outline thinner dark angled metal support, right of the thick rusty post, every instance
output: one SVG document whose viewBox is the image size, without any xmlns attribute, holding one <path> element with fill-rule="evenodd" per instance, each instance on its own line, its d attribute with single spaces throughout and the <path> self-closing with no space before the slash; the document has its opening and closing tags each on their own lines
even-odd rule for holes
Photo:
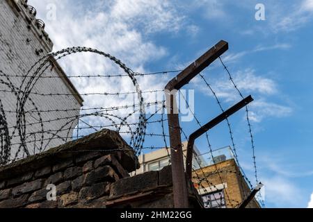
<svg viewBox="0 0 313 222">
<path fill-rule="evenodd" d="M 228 117 L 230 117 L 235 112 L 241 110 L 241 108 L 244 108 L 246 105 L 251 103 L 253 101 L 252 96 L 248 96 L 246 99 L 243 99 L 239 103 L 236 103 L 236 105 L 232 106 L 232 108 L 229 108 L 222 114 L 218 115 L 218 117 L 212 119 L 207 124 L 199 128 L 198 130 L 195 130 L 188 139 L 188 145 L 187 145 L 187 156 L 186 156 L 186 176 L 187 180 L 191 181 L 191 169 L 192 169 L 192 161 L 193 161 L 193 145 L 195 144 L 195 139 L 206 133 L 211 128 L 214 128 L 214 126 L 218 125 L 218 123 L 224 121 Z"/>
</svg>

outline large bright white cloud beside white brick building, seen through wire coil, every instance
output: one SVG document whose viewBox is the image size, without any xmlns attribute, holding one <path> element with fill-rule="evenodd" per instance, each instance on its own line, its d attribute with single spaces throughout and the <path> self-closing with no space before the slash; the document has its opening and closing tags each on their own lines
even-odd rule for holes
<svg viewBox="0 0 313 222">
<path fill-rule="evenodd" d="M 56 20 L 46 18 L 47 3 L 56 6 Z M 69 46 L 86 46 L 122 60 L 134 71 L 145 73 L 151 60 L 166 56 L 167 50 L 152 42 L 151 33 L 176 33 L 184 25 L 184 16 L 172 1 L 74 1 L 30 0 L 37 17 L 43 19 L 46 31 L 54 42 L 54 51 Z M 194 29 L 195 30 L 195 29 Z M 60 60 L 67 75 L 122 74 L 123 71 L 110 60 L 92 53 L 70 55 Z M 154 71 L 154 70 L 153 70 Z M 130 78 L 71 78 L 81 94 L 93 92 L 135 92 Z M 143 91 L 163 89 L 165 77 L 138 78 Z M 145 94 L 145 102 L 155 101 L 153 94 Z M 136 96 L 83 96 L 84 108 L 112 107 L 139 103 Z M 125 110 L 123 110 L 125 111 Z M 120 117 L 128 113 L 114 112 Z M 105 119 L 89 119 L 99 126 Z M 130 122 L 136 122 L 131 117 Z"/>
</svg>

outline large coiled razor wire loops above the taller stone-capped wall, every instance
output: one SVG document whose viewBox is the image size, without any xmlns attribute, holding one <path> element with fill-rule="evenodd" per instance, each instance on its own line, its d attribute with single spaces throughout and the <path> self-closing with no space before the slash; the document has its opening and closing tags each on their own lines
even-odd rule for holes
<svg viewBox="0 0 313 222">
<path fill-rule="evenodd" d="M 135 107 L 138 106 L 138 121 L 136 123 L 136 129 L 133 130 L 131 126 L 127 123 L 127 119 L 131 117 L 134 112 L 131 112 L 127 115 L 127 117 L 118 117 L 114 114 L 109 114 L 108 112 L 101 112 L 96 111 L 88 114 L 79 114 L 75 117 L 69 117 L 67 118 L 68 121 L 61 126 L 61 128 L 58 128 L 55 132 L 47 131 L 44 128 L 45 121 L 41 117 L 41 112 L 35 105 L 35 102 L 33 99 L 31 99 L 31 95 L 36 94 L 33 92 L 33 89 L 35 85 L 38 83 L 38 80 L 42 78 L 43 74 L 49 67 L 53 65 L 51 62 L 52 60 L 61 60 L 62 58 L 65 58 L 66 56 L 70 56 L 76 53 L 95 53 L 100 56 L 104 56 L 104 58 L 111 60 L 115 63 L 115 65 L 118 65 L 122 71 L 124 71 L 125 74 L 122 76 L 128 76 L 131 79 L 131 83 L 134 85 L 135 91 L 133 94 L 137 94 L 138 99 L 138 105 L 133 104 L 129 105 L 129 107 Z M 11 155 L 11 139 L 13 137 L 17 137 L 16 134 L 18 134 L 18 137 L 20 139 L 19 148 L 17 149 L 17 152 L 15 153 L 15 157 L 12 161 L 17 160 L 18 155 L 21 151 L 23 151 L 26 156 L 31 155 L 31 150 L 34 145 L 31 145 L 30 142 L 34 142 L 35 146 L 38 146 L 38 151 L 42 152 L 45 151 L 45 149 L 49 146 L 49 142 L 55 138 L 62 139 L 63 142 L 67 142 L 69 139 L 72 139 L 72 135 L 70 135 L 70 129 L 74 128 L 74 123 L 76 121 L 81 121 L 83 117 L 88 116 L 94 116 L 94 117 L 102 117 L 106 119 L 107 121 L 111 121 L 112 125 L 115 127 L 115 129 L 119 132 L 122 128 L 122 126 L 126 126 L 129 129 L 129 133 L 131 134 L 131 139 L 129 142 L 129 145 L 134 148 L 135 153 L 140 153 L 141 149 L 143 148 L 143 142 L 145 138 L 145 130 L 146 130 L 146 119 L 145 119 L 145 103 L 143 102 L 143 96 L 141 88 L 138 85 L 138 82 L 136 80 L 136 76 L 138 76 L 137 73 L 134 73 L 131 69 L 129 69 L 123 62 L 118 60 L 118 58 L 115 58 L 114 56 L 111 56 L 109 53 L 104 53 L 102 51 L 99 51 L 97 49 L 91 49 L 87 47 L 71 47 L 67 49 L 62 49 L 60 51 L 56 51 L 55 53 L 49 53 L 47 56 L 43 56 L 35 62 L 35 64 L 27 71 L 26 75 L 16 75 L 22 77 L 22 83 L 19 87 L 16 87 L 13 85 L 13 83 L 10 81 L 10 76 L 3 73 L 3 71 L 0 71 L 1 76 L 3 76 L 6 80 L 0 79 L 0 83 L 2 85 L 6 85 L 8 87 L 8 92 L 12 92 L 15 94 L 15 97 L 17 99 L 16 104 L 16 110 L 15 110 L 15 116 L 16 116 L 16 126 L 13 126 L 12 133 L 9 135 L 9 128 L 8 123 L 6 121 L 6 112 L 3 108 L 3 105 L 0 100 L 0 142 L 1 142 L 1 153 L 0 153 L 0 164 L 7 164 L 8 159 Z M 4 91 L 4 90 L 3 90 Z M 45 94 L 44 94 L 45 95 Z M 108 95 L 108 94 L 104 94 Z M 46 96 L 52 96 L 47 94 Z M 29 110 L 26 110 L 26 103 L 31 104 L 33 108 L 31 108 L 31 112 Z M 28 108 L 29 109 L 29 108 Z M 116 109 L 118 110 L 118 108 Z M 58 110 L 56 110 L 58 111 Z M 68 111 L 68 110 L 66 110 Z M 13 112 L 12 112 L 13 113 Z M 27 132 L 27 126 L 32 125 L 32 123 L 26 122 L 26 114 L 35 113 L 37 115 L 38 124 L 40 125 L 40 131 L 36 133 L 26 133 Z M 51 121 L 57 121 L 58 119 L 51 119 Z M 118 119 L 120 123 L 117 123 L 115 119 Z M 46 122 L 51 122 L 46 121 Z M 86 123 L 86 122 L 84 122 Z M 88 124 L 88 123 L 86 123 Z M 62 130 L 68 130 L 67 131 L 67 137 L 61 138 L 58 133 Z M 95 128 L 94 128 L 95 129 Z M 49 135 L 49 138 L 47 138 L 47 135 Z M 77 135 L 78 136 L 78 135 Z M 38 138 L 39 137 L 39 138 Z M 33 138 L 30 142 L 28 139 Z M 44 144 L 44 141 L 48 141 Z M 31 148 L 32 147 L 32 148 Z"/>
</svg>

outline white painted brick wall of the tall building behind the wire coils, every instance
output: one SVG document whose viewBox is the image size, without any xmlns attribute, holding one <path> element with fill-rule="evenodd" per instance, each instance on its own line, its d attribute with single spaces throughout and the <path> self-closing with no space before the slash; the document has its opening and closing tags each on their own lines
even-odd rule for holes
<svg viewBox="0 0 313 222">
<path fill-rule="evenodd" d="M 22 13 L 22 12 L 19 12 Z M 0 70 L 7 75 L 25 75 L 30 67 L 37 62 L 43 55 L 49 53 L 49 48 L 42 44 L 42 40 L 38 38 L 38 35 L 27 28 L 27 22 L 21 15 L 14 12 L 13 8 L 8 5 L 6 0 L 0 0 Z M 27 41 L 29 40 L 29 41 Z M 36 49 L 44 49 L 44 53 L 37 56 Z M 45 71 L 47 76 L 58 76 L 56 69 L 47 69 Z M 0 80 L 4 80 L 8 83 L 8 80 L 4 76 L 0 76 Z M 10 77 L 11 83 L 15 87 L 20 87 L 22 78 Z M 5 84 L 0 83 L 0 90 L 10 90 Z M 35 85 L 33 92 L 40 93 L 65 93 L 70 94 L 71 91 L 61 78 L 40 78 Z M 42 121 L 54 120 L 58 118 L 76 117 L 79 114 L 79 108 L 81 105 L 74 96 L 38 96 L 31 95 L 31 99 L 35 102 L 39 110 L 70 110 L 68 112 L 42 112 Z M 17 99 L 15 94 L 11 92 L 0 92 L 0 99 L 3 103 L 3 109 L 6 110 L 6 118 L 8 122 L 8 128 L 10 129 L 10 135 L 13 134 L 13 128 L 16 126 L 16 114 L 15 112 Z M 33 110 L 33 105 L 28 101 L 25 106 L 25 110 Z M 26 124 L 38 122 L 38 114 L 31 113 L 26 114 Z M 74 118 L 72 118 L 73 120 Z M 61 119 L 58 121 L 51 121 L 44 123 L 44 130 L 58 130 L 64 126 L 69 119 Z M 69 135 L 72 137 L 72 130 L 77 125 L 77 121 L 74 121 L 72 125 L 68 125 Z M 58 136 L 63 138 L 67 137 L 68 130 L 63 130 L 58 133 Z M 38 133 L 39 132 L 39 133 Z M 41 137 L 40 124 L 36 123 L 31 127 L 26 128 L 26 133 L 29 136 L 27 141 L 33 141 L 40 139 Z M 35 133 L 31 135 L 30 133 Z M 64 141 L 61 138 L 54 138 L 51 142 L 46 140 L 51 135 L 44 133 L 44 148 L 51 148 L 63 144 Z M 15 132 L 11 140 L 12 151 L 11 158 L 19 149 L 19 136 Z M 29 142 L 27 144 L 30 153 L 38 153 L 38 146 L 40 142 Z M 18 157 L 23 157 L 24 152 L 21 151 Z"/>
</svg>

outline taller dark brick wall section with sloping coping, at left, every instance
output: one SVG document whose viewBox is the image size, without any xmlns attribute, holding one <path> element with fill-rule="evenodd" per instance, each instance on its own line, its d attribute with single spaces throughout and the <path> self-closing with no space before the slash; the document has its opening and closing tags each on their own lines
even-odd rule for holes
<svg viewBox="0 0 313 222">
<path fill-rule="evenodd" d="M 0 168 L 0 207 L 105 207 L 113 182 L 136 169 L 134 151 L 110 130 Z M 56 185 L 48 201 L 47 185 Z"/>
</svg>

